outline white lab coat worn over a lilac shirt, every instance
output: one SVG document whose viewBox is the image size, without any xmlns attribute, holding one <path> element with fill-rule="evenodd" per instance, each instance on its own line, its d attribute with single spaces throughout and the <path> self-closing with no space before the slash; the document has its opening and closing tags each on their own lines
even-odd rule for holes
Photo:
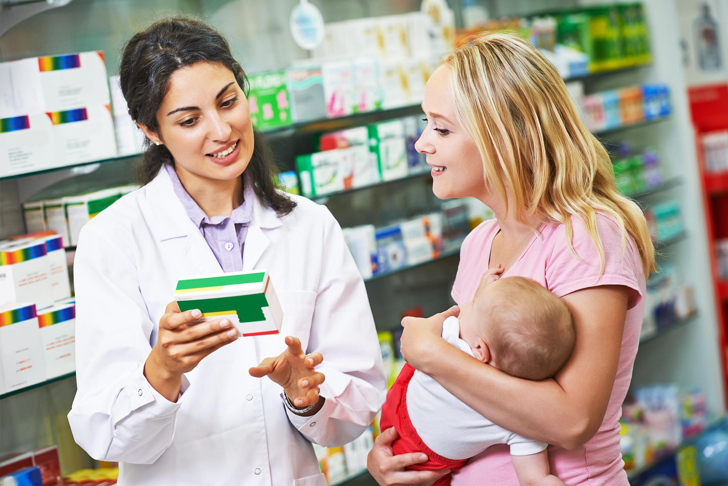
<svg viewBox="0 0 728 486">
<path fill-rule="evenodd" d="M 364 282 L 325 206 L 278 218 L 256 199 L 245 270 L 269 271 L 283 308 L 280 334 L 239 338 L 183 378 L 176 403 L 143 366 L 178 279 L 221 273 L 161 170 L 82 229 L 76 250 L 76 380 L 68 421 L 92 458 L 119 461 L 119 485 L 325 486 L 311 442 L 358 437 L 386 380 Z M 323 408 L 288 412 L 281 388 L 248 368 L 301 339 L 320 351 Z"/>
</svg>

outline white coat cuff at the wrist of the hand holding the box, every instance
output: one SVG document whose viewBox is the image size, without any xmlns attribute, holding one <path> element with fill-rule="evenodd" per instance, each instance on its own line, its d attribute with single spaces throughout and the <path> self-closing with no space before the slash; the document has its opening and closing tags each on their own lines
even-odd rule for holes
<svg viewBox="0 0 728 486">
<path fill-rule="evenodd" d="M 189 381 L 182 375 L 181 391 L 186 390 L 187 387 L 189 387 Z M 182 399 L 182 393 L 176 403 L 162 397 L 146 380 L 142 363 L 135 373 L 132 373 L 127 385 L 119 391 L 119 396 L 116 397 L 116 401 L 111 407 L 111 420 L 116 425 L 136 410 L 144 410 L 152 417 L 173 415 L 182 405 Z"/>
</svg>

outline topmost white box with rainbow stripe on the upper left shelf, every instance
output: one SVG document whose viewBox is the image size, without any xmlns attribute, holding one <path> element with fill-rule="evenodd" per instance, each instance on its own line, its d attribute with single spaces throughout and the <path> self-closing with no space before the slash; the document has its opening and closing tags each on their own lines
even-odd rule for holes
<svg viewBox="0 0 728 486">
<path fill-rule="evenodd" d="M 1 80 L 8 83 L 3 94 L 6 99 L 12 96 L 12 103 L 0 104 L 3 116 L 111 103 L 102 51 L 28 57 L 3 64 Z"/>
</svg>

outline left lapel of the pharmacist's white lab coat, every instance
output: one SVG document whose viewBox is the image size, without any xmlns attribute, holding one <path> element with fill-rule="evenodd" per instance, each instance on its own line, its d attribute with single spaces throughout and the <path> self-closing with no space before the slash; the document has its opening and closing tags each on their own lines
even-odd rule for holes
<svg viewBox="0 0 728 486">
<path fill-rule="evenodd" d="M 181 266 L 189 263 L 198 274 L 220 274 L 223 270 L 205 237 L 187 215 L 172 187 L 167 171 L 162 168 L 146 187 L 149 210 L 156 215 L 153 232 L 163 251 L 178 252 Z"/>
</svg>

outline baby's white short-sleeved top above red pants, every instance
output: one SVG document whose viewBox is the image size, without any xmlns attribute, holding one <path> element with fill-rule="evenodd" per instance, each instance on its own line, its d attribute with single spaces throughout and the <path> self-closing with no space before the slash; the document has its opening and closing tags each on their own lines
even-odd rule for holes
<svg viewBox="0 0 728 486">
<path fill-rule="evenodd" d="M 459 336 L 459 320 L 448 317 L 443 339 L 472 356 Z M 414 372 L 407 388 L 407 410 L 422 442 L 444 458 L 472 458 L 496 444 L 510 445 L 512 455 L 536 454 L 547 447 L 496 426 L 421 371 Z"/>
</svg>

